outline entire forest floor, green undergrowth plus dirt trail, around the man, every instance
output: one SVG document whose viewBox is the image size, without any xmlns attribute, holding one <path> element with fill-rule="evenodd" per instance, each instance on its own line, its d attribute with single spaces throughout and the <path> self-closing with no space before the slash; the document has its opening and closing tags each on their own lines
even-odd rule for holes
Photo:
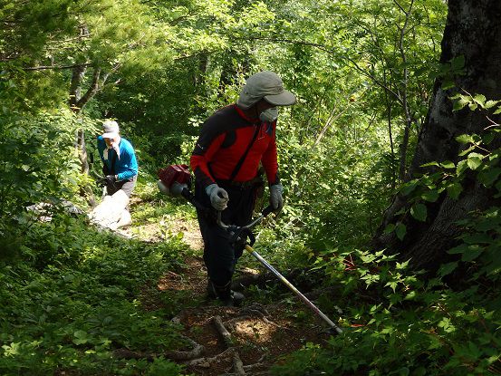
<svg viewBox="0 0 501 376">
<path fill-rule="evenodd" d="M 457 265 L 427 279 L 383 252 L 288 248 L 294 263 L 281 272 L 342 327 L 332 336 L 269 275 L 246 284 L 241 308 L 207 300 L 185 202 L 145 184 L 131 211 L 121 233 L 55 212 L 50 222 L 25 218 L 27 236 L 7 239 L 15 252 L 1 273 L 2 374 L 499 374 L 499 297 L 479 294 L 485 279 L 448 288 Z M 272 263 L 294 244 L 275 235 L 280 220 L 257 229 L 256 250 Z M 260 272 L 244 255 L 236 280 Z"/>
</svg>

